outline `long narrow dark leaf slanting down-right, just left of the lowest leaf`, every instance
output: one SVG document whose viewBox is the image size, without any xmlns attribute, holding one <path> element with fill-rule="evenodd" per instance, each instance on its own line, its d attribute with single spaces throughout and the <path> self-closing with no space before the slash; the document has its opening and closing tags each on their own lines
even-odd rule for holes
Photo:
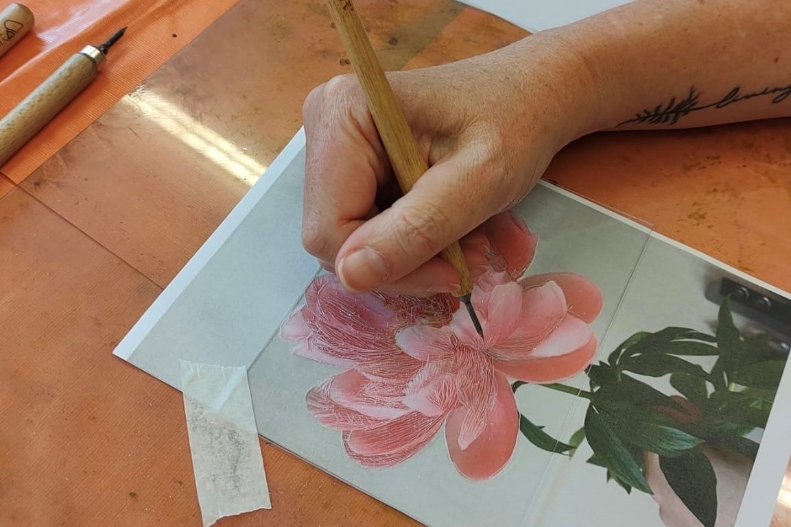
<svg viewBox="0 0 791 527">
<path fill-rule="evenodd" d="M 642 467 L 634 460 L 630 450 L 624 446 L 618 435 L 602 420 L 593 405 L 585 415 L 585 437 L 600 460 L 613 476 L 630 487 L 651 494 L 651 488 L 642 473 Z"/>
</svg>

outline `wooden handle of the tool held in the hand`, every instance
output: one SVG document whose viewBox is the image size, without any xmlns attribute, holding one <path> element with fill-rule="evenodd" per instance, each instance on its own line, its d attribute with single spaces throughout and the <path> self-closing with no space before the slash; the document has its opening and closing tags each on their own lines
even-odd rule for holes
<svg viewBox="0 0 791 527">
<path fill-rule="evenodd" d="M 429 165 L 412 135 L 407 118 L 395 100 L 354 3 L 351 0 L 327 0 L 327 6 L 365 92 L 373 122 L 377 125 L 384 149 L 388 152 L 395 178 L 406 194 L 426 173 Z M 456 296 L 468 295 L 472 291 L 472 280 L 459 243 L 454 242 L 446 247 L 440 256 L 460 274 L 461 288 Z"/>
</svg>

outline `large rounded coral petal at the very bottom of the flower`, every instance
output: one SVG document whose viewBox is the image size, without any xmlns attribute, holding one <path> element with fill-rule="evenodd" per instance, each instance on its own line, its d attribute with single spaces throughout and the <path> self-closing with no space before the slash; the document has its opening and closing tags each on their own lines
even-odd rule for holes
<svg viewBox="0 0 791 527">
<path fill-rule="evenodd" d="M 519 414 L 511 387 L 503 375 L 495 375 L 494 405 L 486 427 L 475 441 L 462 449 L 459 437 L 465 408 L 454 410 L 445 424 L 445 441 L 456 469 L 470 480 L 488 480 L 508 463 L 517 444 Z"/>
</svg>

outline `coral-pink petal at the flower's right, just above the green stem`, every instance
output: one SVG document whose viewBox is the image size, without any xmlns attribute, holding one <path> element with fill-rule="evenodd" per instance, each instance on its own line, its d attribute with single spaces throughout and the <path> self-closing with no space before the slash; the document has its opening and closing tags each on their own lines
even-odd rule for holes
<svg viewBox="0 0 791 527">
<path fill-rule="evenodd" d="M 494 367 L 510 378 L 526 382 L 558 382 L 588 367 L 596 355 L 596 337 L 581 348 L 562 356 L 524 360 L 495 360 Z"/>
</svg>

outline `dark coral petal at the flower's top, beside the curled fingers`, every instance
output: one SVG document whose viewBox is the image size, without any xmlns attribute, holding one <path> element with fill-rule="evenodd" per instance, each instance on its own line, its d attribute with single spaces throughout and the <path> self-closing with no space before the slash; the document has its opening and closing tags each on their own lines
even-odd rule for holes
<svg viewBox="0 0 791 527">
<path fill-rule="evenodd" d="M 484 224 L 489 238 L 494 269 L 519 278 L 536 254 L 538 238 L 524 221 L 511 212 L 500 213 Z"/>
</svg>

